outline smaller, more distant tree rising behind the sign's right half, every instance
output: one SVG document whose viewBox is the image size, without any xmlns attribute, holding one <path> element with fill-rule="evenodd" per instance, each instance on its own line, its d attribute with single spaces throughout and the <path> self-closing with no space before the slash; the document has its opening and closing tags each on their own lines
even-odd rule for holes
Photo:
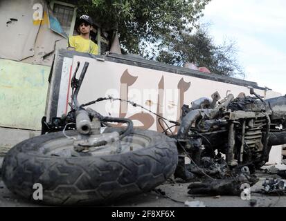
<svg viewBox="0 0 286 221">
<path fill-rule="evenodd" d="M 163 38 L 157 61 L 177 66 L 193 62 L 196 66 L 205 66 L 212 73 L 244 77 L 236 59 L 235 42 L 224 41 L 222 45 L 215 45 L 206 26 L 199 27 L 193 34 L 182 32 L 180 35 L 164 35 Z"/>
</svg>

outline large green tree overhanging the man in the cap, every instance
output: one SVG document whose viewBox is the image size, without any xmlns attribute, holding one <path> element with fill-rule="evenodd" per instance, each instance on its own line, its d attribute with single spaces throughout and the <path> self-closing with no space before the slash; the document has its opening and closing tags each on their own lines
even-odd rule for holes
<svg viewBox="0 0 286 221">
<path fill-rule="evenodd" d="M 190 32 L 211 0 L 79 0 L 78 10 L 118 30 L 123 52 L 143 55 L 162 35 Z M 163 42 L 161 42 L 163 44 Z"/>
</svg>

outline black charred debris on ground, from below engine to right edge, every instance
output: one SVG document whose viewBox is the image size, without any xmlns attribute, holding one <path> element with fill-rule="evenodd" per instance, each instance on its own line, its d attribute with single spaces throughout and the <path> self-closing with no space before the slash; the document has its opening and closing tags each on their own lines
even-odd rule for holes
<svg viewBox="0 0 286 221">
<path fill-rule="evenodd" d="M 263 178 L 257 173 L 263 174 Z M 184 174 L 184 175 L 182 175 Z M 224 158 L 212 159 L 202 157 L 199 165 L 185 164 L 177 169 L 174 180 L 169 179 L 170 184 L 188 184 L 188 194 L 222 196 L 238 195 L 242 191 L 242 184 L 249 184 L 249 187 L 262 180 L 258 189 L 253 193 L 262 195 L 286 195 L 286 169 L 278 169 L 276 166 L 269 166 L 267 169 L 255 169 L 254 165 L 236 166 L 231 169 Z M 160 189 L 161 191 L 161 189 Z M 164 192 L 165 195 L 165 192 Z M 256 206 L 256 200 L 249 202 L 250 206 Z"/>
</svg>

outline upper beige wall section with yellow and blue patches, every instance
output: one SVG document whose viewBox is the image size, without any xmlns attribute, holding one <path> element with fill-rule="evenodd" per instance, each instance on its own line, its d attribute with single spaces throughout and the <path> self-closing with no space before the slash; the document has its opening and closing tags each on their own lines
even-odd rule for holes
<svg viewBox="0 0 286 221">
<path fill-rule="evenodd" d="M 41 19 L 33 18 L 35 5 L 43 7 L 36 13 Z M 45 0 L 0 0 L 0 21 L 0 58 L 51 66 L 55 49 L 66 48 L 67 37 Z"/>
</svg>

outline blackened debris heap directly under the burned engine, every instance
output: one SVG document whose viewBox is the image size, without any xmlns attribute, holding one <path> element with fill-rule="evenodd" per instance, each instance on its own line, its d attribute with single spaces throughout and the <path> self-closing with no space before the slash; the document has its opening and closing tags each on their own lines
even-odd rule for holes
<svg viewBox="0 0 286 221">
<path fill-rule="evenodd" d="M 190 183 L 188 193 L 191 195 L 240 195 L 242 184 L 253 186 L 259 180 L 251 171 L 248 166 L 231 170 L 222 157 L 216 160 L 202 157 L 199 166 L 186 164 L 185 168 L 177 169 L 175 177 L 176 182 Z M 180 176 L 182 173 L 187 175 Z"/>
</svg>

